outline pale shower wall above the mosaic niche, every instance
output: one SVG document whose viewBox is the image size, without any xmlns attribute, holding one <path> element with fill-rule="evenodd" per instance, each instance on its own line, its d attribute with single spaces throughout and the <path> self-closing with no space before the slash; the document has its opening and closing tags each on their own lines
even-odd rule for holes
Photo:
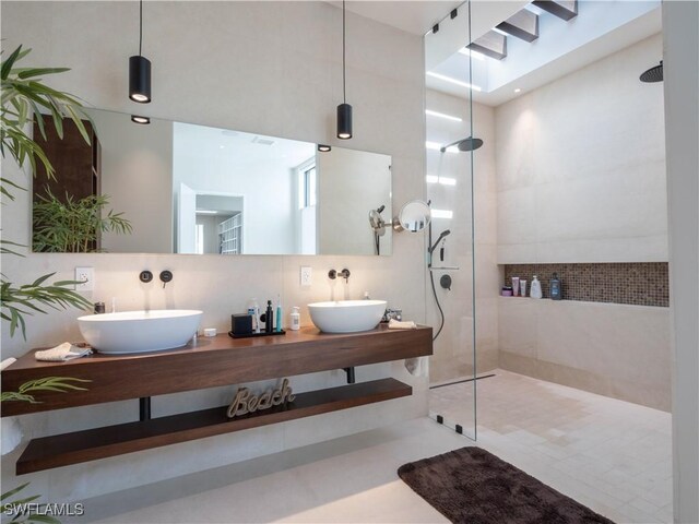
<svg viewBox="0 0 699 524">
<path fill-rule="evenodd" d="M 667 260 L 661 58 L 642 40 L 496 111 L 498 262 Z"/>
</svg>

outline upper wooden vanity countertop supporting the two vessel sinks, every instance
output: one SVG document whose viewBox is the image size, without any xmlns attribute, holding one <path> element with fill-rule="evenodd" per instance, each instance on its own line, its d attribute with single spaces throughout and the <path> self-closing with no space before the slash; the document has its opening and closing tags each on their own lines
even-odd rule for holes
<svg viewBox="0 0 699 524">
<path fill-rule="evenodd" d="M 2 391 L 29 380 L 72 377 L 90 380 L 87 391 L 39 392 L 36 404 L 3 402 L 2 416 L 154 396 L 277 379 L 433 354 L 433 329 L 389 330 L 379 324 L 359 333 L 321 333 L 315 326 L 252 338 L 199 336 L 164 352 L 93 355 L 67 362 L 42 362 L 34 349 L 2 371 Z M 39 348 L 40 349 L 40 348 Z"/>
</svg>

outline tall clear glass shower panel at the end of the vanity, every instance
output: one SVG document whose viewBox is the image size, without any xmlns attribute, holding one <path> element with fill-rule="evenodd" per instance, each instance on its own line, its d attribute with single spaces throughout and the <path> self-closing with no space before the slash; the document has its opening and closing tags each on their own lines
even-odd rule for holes
<svg viewBox="0 0 699 524">
<path fill-rule="evenodd" d="M 455 11 L 455 12 L 454 12 Z M 473 62 L 470 4 L 425 36 L 427 320 L 434 326 L 429 414 L 476 438 Z M 454 15 L 455 14 L 455 15 Z M 437 29 L 437 31 L 435 31 Z"/>
</svg>

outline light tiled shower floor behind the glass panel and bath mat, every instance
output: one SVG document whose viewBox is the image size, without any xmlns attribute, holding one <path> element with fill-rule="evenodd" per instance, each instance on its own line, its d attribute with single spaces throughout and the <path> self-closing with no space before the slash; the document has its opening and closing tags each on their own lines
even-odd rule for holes
<svg viewBox="0 0 699 524">
<path fill-rule="evenodd" d="M 672 522 L 671 415 L 503 370 L 477 381 L 478 445 L 618 523 Z M 473 385 L 430 391 L 473 433 Z"/>
</svg>

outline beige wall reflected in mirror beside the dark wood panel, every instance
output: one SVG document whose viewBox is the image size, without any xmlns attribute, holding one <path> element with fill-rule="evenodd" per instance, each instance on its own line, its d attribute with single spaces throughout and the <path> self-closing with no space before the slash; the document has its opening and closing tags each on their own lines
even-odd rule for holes
<svg viewBox="0 0 699 524">
<path fill-rule="evenodd" d="M 173 122 L 135 126 L 118 112 L 90 115 L 102 145 L 102 193 L 110 198 L 108 210 L 123 212 L 133 227 L 130 235 L 104 234 L 102 247 L 112 253 L 171 253 Z"/>
</svg>

